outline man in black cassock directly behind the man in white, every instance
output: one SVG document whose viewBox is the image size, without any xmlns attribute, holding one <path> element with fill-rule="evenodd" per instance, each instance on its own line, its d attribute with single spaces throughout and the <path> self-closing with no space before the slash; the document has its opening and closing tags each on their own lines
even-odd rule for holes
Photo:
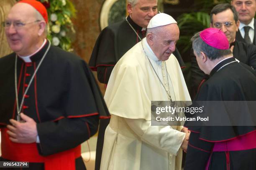
<svg viewBox="0 0 256 170">
<path fill-rule="evenodd" d="M 98 80 L 108 84 L 110 74 L 118 60 L 146 36 L 149 20 L 157 14 L 157 0 L 127 0 L 129 15 L 124 21 L 110 25 L 100 33 L 89 66 L 97 71 Z M 173 52 L 179 65 L 184 67 L 179 51 Z"/>
</svg>

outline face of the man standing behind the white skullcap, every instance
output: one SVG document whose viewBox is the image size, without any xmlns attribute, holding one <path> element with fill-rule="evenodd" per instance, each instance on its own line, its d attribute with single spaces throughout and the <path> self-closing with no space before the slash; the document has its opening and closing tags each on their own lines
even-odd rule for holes
<svg viewBox="0 0 256 170">
<path fill-rule="evenodd" d="M 156 0 L 138 0 L 134 6 L 128 4 L 127 10 L 133 22 L 146 28 L 151 18 L 157 14 L 157 2 Z"/>
</svg>

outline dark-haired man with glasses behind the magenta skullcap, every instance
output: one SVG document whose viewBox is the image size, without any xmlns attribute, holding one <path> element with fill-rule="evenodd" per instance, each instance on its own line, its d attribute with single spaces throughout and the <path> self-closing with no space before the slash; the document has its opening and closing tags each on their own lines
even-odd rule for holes
<svg viewBox="0 0 256 170">
<path fill-rule="evenodd" d="M 256 69 L 256 46 L 236 40 L 236 32 L 238 31 L 240 22 L 235 7 L 228 3 L 216 5 L 210 13 L 210 20 L 210 27 L 218 28 L 225 33 L 230 49 L 233 50 L 233 56 L 239 62 L 243 62 Z M 191 64 L 190 84 L 193 97 L 209 77 L 198 67 L 195 55 L 191 57 Z"/>
</svg>

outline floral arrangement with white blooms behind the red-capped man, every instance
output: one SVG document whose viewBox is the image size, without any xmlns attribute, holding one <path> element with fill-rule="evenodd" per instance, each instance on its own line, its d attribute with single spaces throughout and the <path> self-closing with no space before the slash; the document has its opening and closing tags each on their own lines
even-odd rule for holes
<svg viewBox="0 0 256 170">
<path fill-rule="evenodd" d="M 70 0 L 39 0 L 46 7 L 48 13 L 47 38 L 52 45 L 63 50 L 72 51 L 70 35 L 75 33 L 72 17 L 76 9 Z"/>
</svg>

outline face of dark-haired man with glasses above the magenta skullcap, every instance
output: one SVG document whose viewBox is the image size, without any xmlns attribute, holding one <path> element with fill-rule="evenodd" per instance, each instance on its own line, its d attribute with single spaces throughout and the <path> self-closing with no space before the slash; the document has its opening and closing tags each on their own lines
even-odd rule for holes
<svg viewBox="0 0 256 170">
<path fill-rule="evenodd" d="M 225 33 L 230 44 L 235 40 L 236 32 L 238 31 L 239 27 L 239 21 L 236 23 L 232 11 L 228 9 L 223 12 L 217 13 L 216 15 L 212 15 L 211 27 L 221 29 Z"/>
</svg>

